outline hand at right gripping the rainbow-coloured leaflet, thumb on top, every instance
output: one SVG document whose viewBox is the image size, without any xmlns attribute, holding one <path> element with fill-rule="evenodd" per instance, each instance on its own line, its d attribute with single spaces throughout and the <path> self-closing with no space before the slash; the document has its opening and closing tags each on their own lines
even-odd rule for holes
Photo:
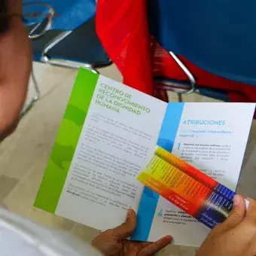
<svg viewBox="0 0 256 256">
<path fill-rule="evenodd" d="M 236 195 L 233 210 L 227 221 L 215 227 L 197 251 L 197 256 L 254 256 L 256 255 L 256 201 Z"/>
</svg>

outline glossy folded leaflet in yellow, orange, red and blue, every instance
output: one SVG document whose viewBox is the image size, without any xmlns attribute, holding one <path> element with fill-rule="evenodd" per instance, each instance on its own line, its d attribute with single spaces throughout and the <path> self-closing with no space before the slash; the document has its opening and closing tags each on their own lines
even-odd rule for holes
<svg viewBox="0 0 256 256">
<path fill-rule="evenodd" d="M 210 228 L 228 217 L 236 194 L 158 146 L 138 180 Z"/>
</svg>

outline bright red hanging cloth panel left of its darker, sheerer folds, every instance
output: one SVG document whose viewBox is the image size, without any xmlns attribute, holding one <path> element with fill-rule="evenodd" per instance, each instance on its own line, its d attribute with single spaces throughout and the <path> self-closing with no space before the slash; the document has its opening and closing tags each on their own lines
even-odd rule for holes
<svg viewBox="0 0 256 256">
<path fill-rule="evenodd" d="M 154 94 L 147 0 L 98 0 L 96 31 L 123 83 Z"/>
</svg>

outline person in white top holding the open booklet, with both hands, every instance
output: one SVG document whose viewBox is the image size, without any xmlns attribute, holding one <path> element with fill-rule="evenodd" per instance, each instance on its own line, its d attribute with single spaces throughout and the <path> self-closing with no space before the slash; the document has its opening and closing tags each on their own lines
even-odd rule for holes
<svg viewBox="0 0 256 256">
<path fill-rule="evenodd" d="M 21 4 L 21 0 L 0 0 L 0 139 L 12 133 L 17 125 L 32 67 Z M 172 241 L 172 236 L 153 243 L 127 240 L 135 228 L 136 214 L 130 210 L 125 223 L 101 233 L 91 246 L 0 209 L 0 255 L 149 256 Z M 209 233 L 197 255 L 256 255 L 256 202 L 250 200 L 246 212 L 244 199 L 234 197 L 229 218 Z"/>
</svg>

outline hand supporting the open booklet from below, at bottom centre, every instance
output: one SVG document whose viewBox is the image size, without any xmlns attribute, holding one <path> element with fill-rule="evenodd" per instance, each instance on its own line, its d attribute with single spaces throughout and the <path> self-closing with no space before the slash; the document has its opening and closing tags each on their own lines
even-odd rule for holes
<svg viewBox="0 0 256 256">
<path fill-rule="evenodd" d="M 136 213 L 130 209 L 126 222 L 112 230 L 106 230 L 93 239 L 92 245 L 105 256 L 150 256 L 172 242 L 172 236 L 165 236 L 157 242 L 133 242 L 126 238 L 136 228 Z"/>
</svg>

